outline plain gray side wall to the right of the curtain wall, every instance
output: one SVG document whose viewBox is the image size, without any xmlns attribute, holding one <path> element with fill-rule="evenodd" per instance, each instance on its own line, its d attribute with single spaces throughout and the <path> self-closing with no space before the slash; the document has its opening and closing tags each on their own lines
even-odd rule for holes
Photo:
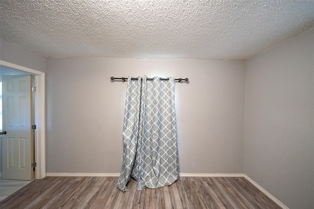
<svg viewBox="0 0 314 209">
<path fill-rule="evenodd" d="M 244 173 L 291 209 L 313 209 L 314 35 L 246 61 Z"/>
</svg>

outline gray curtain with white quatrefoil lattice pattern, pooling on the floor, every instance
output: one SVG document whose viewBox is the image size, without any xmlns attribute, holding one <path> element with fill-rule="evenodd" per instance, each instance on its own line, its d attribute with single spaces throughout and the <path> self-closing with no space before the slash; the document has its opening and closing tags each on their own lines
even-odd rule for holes
<svg viewBox="0 0 314 209">
<path fill-rule="evenodd" d="M 128 77 L 123 125 L 123 159 L 117 187 L 128 191 L 169 186 L 179 178 L 175 118 L 175 80 Z"/>
</svg>

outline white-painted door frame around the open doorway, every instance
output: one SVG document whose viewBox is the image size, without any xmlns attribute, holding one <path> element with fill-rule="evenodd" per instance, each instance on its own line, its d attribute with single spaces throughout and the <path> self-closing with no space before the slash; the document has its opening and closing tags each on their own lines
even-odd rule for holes
<svg viewBox="0 0 314 209">
<path fill-rule="evenodd" d="M 35 162 L 37 163 L 35 169 L 35 179 L 42 179 L 46 177 L 46 114 L 45 114 L 45 73 L 26 68 L 13 63 L 5 62 L 0 60 L 0 66 L 11 68 L 14 70 L 21 70 L 24 72 L 29 72 L 35 76 L 36 92 L 34 99 L 34 121 L 36 124 L 35 131 Z"/>
</svg>

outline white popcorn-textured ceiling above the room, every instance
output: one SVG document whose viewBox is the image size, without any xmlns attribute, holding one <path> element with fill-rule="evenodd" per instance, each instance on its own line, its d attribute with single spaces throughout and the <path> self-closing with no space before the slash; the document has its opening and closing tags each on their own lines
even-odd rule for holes
<svg viewBox="0 0 314 209">
<path fill-rule="evenodd" d="M 46 57 L 247 59 L 314 27 L 314 0 L 0 0 L 0 38 Z"/>
</svg>

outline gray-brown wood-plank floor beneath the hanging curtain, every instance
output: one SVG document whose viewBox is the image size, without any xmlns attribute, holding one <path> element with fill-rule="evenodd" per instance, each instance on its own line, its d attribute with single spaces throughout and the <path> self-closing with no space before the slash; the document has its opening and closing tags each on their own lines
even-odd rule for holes
<svg viewBox="0 0 314 209">
<path fill-rule="evenodd" d="M 118 177 L 46 177 L 0 202 L 0 209 L 280 209 L 243 177 L 180 177 L 171 186 L 128 192 Z"/>
</svg>

